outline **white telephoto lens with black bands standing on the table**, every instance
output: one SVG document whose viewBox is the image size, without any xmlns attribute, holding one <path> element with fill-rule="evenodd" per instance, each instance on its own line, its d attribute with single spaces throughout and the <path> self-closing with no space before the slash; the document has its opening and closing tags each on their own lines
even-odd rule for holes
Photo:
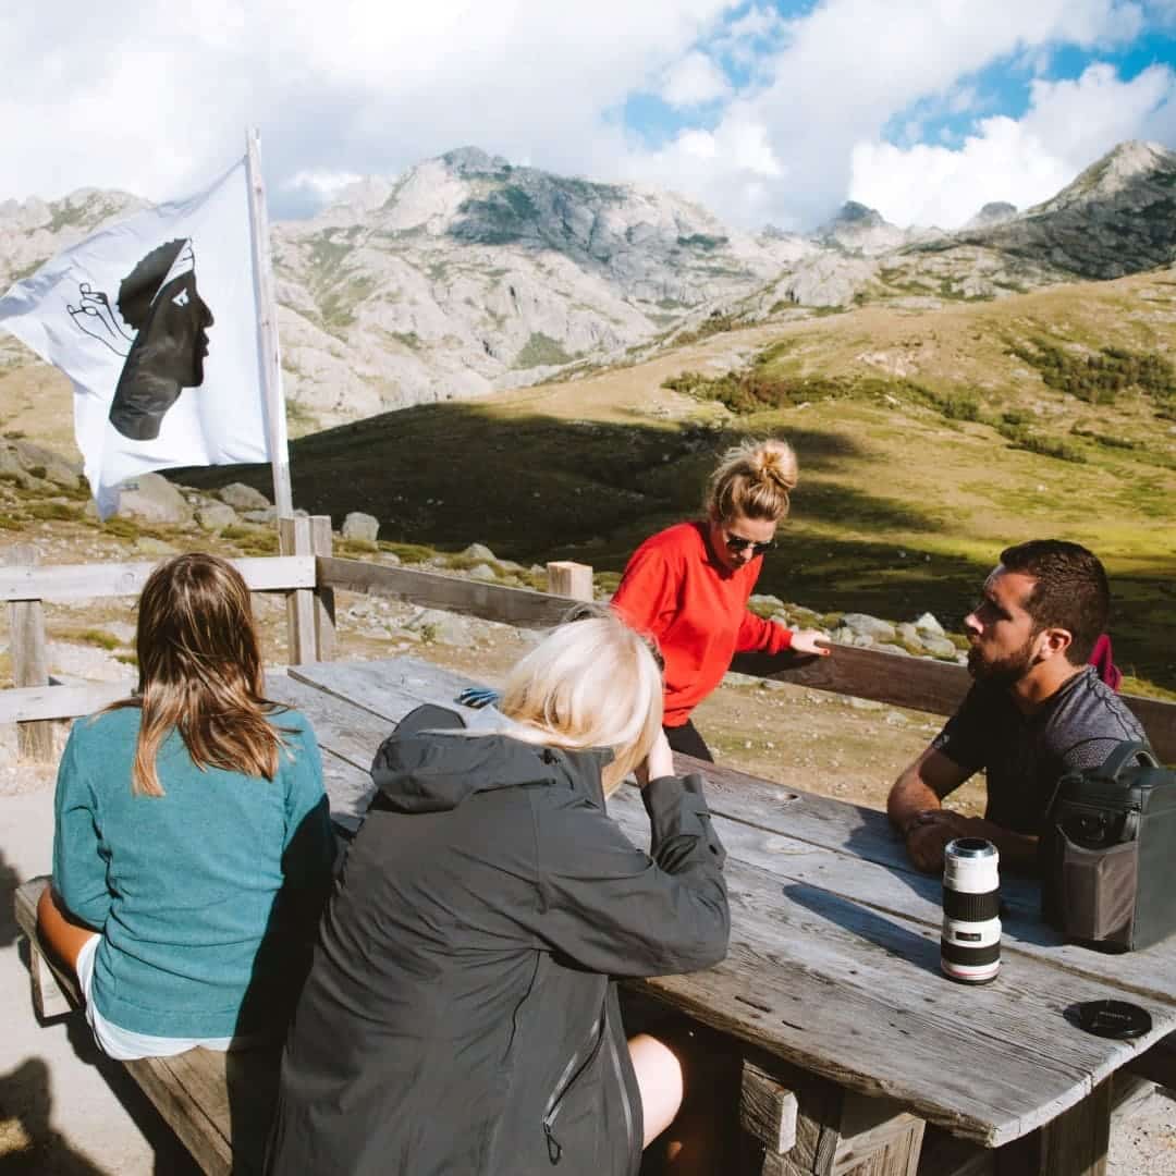
<svg viewBox="0 0 1176 1176">
<path fill-rule="evenodd" d="M 943 854 L 943 931 L 940 965 L 965 984 L 985 984 L 1001 970 L 1001 894 L 996 846 L 957 837 Z"/>
</svg>

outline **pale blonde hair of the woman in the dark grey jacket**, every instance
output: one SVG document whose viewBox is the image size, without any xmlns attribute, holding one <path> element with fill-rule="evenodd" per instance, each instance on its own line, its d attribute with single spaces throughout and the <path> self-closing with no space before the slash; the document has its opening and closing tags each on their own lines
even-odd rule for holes
<svg viewBox="0 0 1176 1176">
<path fill-rule="evenodd" d="M 608 795 L 644 760 L 661 729 L 661 670 L 644 640 L 617 617 L 574 621 L 510 670 L 499 710 L 514 721 L 519 739 L 610 748 Z"/>
</svg>

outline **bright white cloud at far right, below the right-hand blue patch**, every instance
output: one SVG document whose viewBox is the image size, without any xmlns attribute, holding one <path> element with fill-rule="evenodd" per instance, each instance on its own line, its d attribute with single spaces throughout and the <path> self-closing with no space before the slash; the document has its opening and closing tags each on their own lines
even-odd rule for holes
<svg viewBox="0 0 1176 1176">
<path fill-rule="evenodd" d="M 1093 65 L 1073 81 L 1035 81 L 1024 118 L 990 118 L 962 147 L 862 142 L 851 154 L 849 195 L 900 225 L 956 228 L 982 205 L 1024 208 L 1053 196 L 1085 166 L 1130 138 L 1163 134 L 1176 74 L 1152 66 L 1122 81 Z"/>
</svg>

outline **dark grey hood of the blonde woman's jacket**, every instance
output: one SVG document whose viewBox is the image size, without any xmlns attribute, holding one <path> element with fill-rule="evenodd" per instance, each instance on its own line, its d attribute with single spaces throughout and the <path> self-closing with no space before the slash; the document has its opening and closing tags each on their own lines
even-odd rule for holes
<svg viewBox="0 0 1176 1176">
<path fill-rule="evenodd" d="M 440 813 L 476 793 L 542 786 L 580 788 L 603 806 L 600 771 L 612 751 L 564 751 L 524 743 L 508 731 L 467 734 L 465 728 L 461 715 L 445 707 L 417 707 L 406 715 L 372 764 L 379 807 Z"/>
</svg>

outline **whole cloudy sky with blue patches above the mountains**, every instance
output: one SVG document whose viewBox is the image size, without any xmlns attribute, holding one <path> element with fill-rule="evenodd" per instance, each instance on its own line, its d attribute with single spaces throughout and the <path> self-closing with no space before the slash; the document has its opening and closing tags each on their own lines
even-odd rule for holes
<svg viewBox="0 0 1176 1176">
<path fill-rule="evenodd" d="M 1176 0 L 165 0 L 0 26 L 0 200 L 183 194 L 262 132 L 272 214 L 476 145 L 801 229 L 1048 199 L 1176 147 Z"/>
</svg>

